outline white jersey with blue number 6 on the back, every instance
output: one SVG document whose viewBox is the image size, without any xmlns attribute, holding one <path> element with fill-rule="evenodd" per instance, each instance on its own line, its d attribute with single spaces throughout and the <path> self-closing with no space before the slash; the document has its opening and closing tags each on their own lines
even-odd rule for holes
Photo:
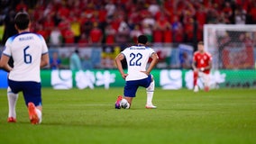
<svg viewBox="0 0 256 144">
<path fill-rule="evenodd" d="M 41 55 L 48 53 L 48 48 L 40 34 L 23 32 L 10 37 L 3 53 L 14 58 L 14 68 L 10 71 L 9 79 L 41 82 Z"/>
</svg>

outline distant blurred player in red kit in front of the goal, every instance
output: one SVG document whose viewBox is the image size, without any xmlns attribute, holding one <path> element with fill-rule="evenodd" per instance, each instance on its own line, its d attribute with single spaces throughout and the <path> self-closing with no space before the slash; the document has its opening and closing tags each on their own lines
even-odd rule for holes
<svg viewBox="0 0 256 144">
<path fill-rule="evenodd" d="M 197 43 L 197 51 L 193 56 L 192 67 L 194 69 L 194 92 L 198 92 L 197 85 L 198 77 L 202 77 L 205 91 L 209 91 L 210 84 L 210 70 L 212 68 L 212 56 L 205 51 L 204 42 Z"/>
</svg>

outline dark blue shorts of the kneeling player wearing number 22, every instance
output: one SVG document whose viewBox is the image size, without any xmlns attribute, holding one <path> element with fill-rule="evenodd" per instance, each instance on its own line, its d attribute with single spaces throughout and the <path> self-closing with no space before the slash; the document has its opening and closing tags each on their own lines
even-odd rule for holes
<svg viewBox="0 0 256 144">
<path fill-rule="evenodd" d="M 126 81 L 123 89 L 123 95 L 126 97 L 135 97 L 139 86 L 147 88 L 151 85 L 151 81 L 151 75 L 149 75 L 147 78 L 140 80 Z"/>
</svg>

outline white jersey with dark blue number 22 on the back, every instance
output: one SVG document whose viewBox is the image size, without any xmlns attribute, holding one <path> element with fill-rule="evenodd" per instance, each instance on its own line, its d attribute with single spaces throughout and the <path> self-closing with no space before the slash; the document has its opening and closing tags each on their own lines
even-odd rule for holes
<svg viewBox="0 0 256 144">
<path fill-rule="evenodd" d="M 146 71 L 147 63 L 155 51 L 145 46 L 132 46 L 122 51 L 127 61 L 128 76 L 125 80 L 139 80 L 148 77 L 141 71 Z"/>
</svg>

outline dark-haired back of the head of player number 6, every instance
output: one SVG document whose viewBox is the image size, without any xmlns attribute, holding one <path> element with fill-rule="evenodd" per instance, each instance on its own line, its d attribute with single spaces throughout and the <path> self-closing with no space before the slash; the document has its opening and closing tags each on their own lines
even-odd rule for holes
<svg viewBox="0 0 256 144">
<path fill-rule="evenodd" d="M 19 30 L 25 30 L 29 27 L 30 16 L 25 12 L 19 12 L 14 18 L 14 23 Z"/>
</svg>

